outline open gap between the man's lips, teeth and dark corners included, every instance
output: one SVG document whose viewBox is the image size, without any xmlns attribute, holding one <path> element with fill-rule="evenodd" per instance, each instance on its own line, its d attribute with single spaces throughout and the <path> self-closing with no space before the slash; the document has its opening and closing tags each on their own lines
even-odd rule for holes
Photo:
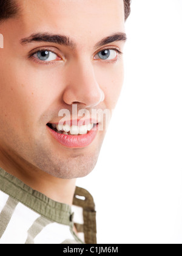
<svg viewBox="0 0 182 256">
<path fill-rule="evenodd" d="M 91 130 L 94 130 L 97 124 L 90 123 L 83 126 L 69 126 L 68 124 L 61 125 L 48 123 L 47 126 L 59 134 L 81 136 L 88 134 Z"/>
</svg>

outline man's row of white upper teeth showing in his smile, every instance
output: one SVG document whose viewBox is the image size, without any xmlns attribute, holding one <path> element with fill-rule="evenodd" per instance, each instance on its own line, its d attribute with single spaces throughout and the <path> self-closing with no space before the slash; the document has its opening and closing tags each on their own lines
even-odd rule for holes
<svg viewBox="0 0 182 256">
<path fill-rule="evenodd" d="M 87 134 L 88 131 L 92 130 L 93 126 L 94 124 L 87 124 L 84 126 L 69 126 L 69 124 L 52 124 L 52 127 L 58 130 L 58 133 L 62 133 L 65 135 L 68 135 L 69 132 L 71 135 L 84 135 Z"/>
</svg>

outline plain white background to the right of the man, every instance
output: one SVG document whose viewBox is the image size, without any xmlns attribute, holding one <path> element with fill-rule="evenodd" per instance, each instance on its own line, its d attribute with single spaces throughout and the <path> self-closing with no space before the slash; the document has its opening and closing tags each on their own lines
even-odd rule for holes
<svg viewBox="0 0 182 256">
<path fill-rule="evenodd" d="M 133 0 L 125 82 L 96 168 L 98 243 L 182 243 L 182 0 Z"/>
</svg>

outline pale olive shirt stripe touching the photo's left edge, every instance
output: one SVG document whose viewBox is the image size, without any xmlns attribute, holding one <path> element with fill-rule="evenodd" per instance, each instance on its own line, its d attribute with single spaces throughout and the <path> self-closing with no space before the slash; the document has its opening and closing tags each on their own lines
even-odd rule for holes
<svg viewBox="0 0 182 256">
<path fill-rule="evenodd" d="M 0 239 L 4 234 L 5 230 L 7 229 L 10 219 L 15 212 L 16 205 L 18 205 L 18 202 L 15 201 L 15 199 L 13 199 L 12 197 L 9 197 L 5 204 L 5 207 L 2 209 L 2 212 L 0 214 Z"/>
</svg>

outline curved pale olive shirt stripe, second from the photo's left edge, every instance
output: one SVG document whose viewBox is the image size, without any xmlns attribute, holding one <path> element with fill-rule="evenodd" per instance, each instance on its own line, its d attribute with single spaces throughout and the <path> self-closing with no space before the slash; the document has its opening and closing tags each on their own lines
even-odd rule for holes
<svg viewBox="0 0 182 256">
<path fill-rule="evenodd" d="M 50 223 L 53 223 L 53 222 L 43 217 L 39 217 L 38 219 L 36 219 L 36 221 L 33 222 L 32 227 L 30 227 L 28 231 L 28 237 L 25 244 L 34 244 L 34 239 L 36 238 L 36 236 L 39 233 L 41 233 L 42 229 L 44 229 L 44 227 L 46 227 Z"/>
</svg>

